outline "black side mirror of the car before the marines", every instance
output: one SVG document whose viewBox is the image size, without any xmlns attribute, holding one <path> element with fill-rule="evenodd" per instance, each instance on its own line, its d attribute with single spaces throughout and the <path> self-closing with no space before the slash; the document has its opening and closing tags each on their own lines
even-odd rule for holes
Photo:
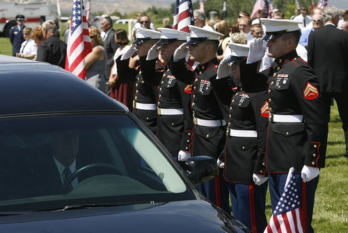
<svg viewBox="0 0 348 233">
<path fill-rule="evenodd" d="M 194 184 L 207 182 L 219 175 L 219 165 L 209 156 L 194 156 L 179 164 Z"/>
</svg>

